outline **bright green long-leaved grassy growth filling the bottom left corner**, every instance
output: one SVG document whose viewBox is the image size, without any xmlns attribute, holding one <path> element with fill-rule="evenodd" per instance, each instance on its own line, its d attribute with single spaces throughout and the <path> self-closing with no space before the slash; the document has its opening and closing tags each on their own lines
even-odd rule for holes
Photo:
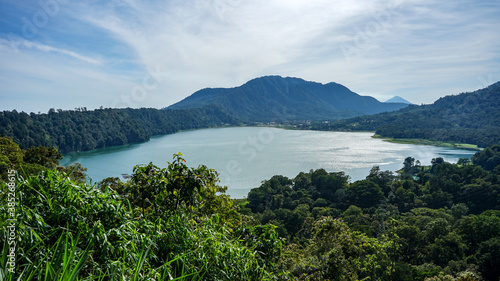
<svg viewBox="0 0 500 281">
<path fill-rule="evenodd" d="M 217 216 L 144 216 L 114 190 L 56 171 L 18 178 L 16 268 L 7 271 L 7 208 L 0 183 L 0 280 L 270 280 Z"/>
</svg>

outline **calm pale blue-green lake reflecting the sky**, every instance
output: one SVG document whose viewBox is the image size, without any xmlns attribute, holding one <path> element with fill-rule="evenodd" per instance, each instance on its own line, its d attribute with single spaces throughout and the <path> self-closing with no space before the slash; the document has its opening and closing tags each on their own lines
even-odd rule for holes
<svg viewBox="0 0 500 281">
<path fill-rule="evenodd" d="M 364 179 L 373 166 L 395 171 L 406 157 L 429 165 L 432 158 L 456 162 L 475 152 L 462 149 L 384 142 L 372 133 L 293 131 L 265 127 L 204 129 L 153 137 L 149 142 L 69 153 L 61 161 L 81 163 L 94 182 L 131 174 L 134 165 L 153 162 L 166 167 L 176 152 L 188 166 L 204 164 L 220 173 L 228 194 L 242 198 L 273 175 L 294 177 L 324 168 L 344 171 L 351 181 Z"/>
</svg>

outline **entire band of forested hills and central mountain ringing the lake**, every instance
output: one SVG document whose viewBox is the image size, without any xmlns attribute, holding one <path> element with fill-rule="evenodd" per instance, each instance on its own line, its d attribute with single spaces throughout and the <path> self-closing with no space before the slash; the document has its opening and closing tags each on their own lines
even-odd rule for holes
<svg viewBox="0 0 500 281">
<path fill-rule="evenodd" d="M 230 94 L 221 96 L 221 92 Z M 212 103 L 216 98 L 223 102 Z M 187 105 L 194 107 L 195 104 L 200 108 L 173 109 Z M 257 78 L 232 89 L 204 89 L 164 110 L 51 109 L 47 114 L 3 111 L 0 112 L 0 136 L 11 137 L 23 149 L 53 146 L 66 153 L 147 141 L 151 136 L 180 130 L 254 122 L 345 118 L 361 114 L 346 109 L 354 104 L 364 107 L 366 112 L 381 109 L 377 107 L 379 105 L 405 108 L 298 127 L 376 131 L 386 138 L 427 139 L 479 147 L 500 143 L 500 82 L 472 93 L 440 98 L 431 105 L 408 106 L 380 103 L 335 83 L 323 85 L 279 76 Z"/>
</svg>

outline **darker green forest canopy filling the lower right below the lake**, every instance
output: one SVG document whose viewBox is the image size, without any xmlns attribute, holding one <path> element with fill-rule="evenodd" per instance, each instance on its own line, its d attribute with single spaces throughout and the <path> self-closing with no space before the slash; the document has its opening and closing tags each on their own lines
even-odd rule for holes
<svg viewBox="0 0 500 281">
<path fill-rule="evenodd" d="M 500 177 L 442 158 L 403 166 L 399 176 L 374 167 L 353 183 L 323 169 L 275 176 L 247 206 L 286 238 L 279 268 L 297 280 L 497 281 Z"/>
</svg>

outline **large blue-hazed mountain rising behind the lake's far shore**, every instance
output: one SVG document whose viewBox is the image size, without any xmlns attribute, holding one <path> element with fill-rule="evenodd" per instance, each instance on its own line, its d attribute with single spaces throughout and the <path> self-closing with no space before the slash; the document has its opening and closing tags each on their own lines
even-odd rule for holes
<svg viewBox="0 0 500 281">
<path fill-rule="evenodd" d="M 394 111 L 403 103 L 381 103 L 337 84 L 264 76 L 235 88 L 202 89 L 167 109 L 214 105 L 244 122 L 334 120 Z"/>
</svg>

